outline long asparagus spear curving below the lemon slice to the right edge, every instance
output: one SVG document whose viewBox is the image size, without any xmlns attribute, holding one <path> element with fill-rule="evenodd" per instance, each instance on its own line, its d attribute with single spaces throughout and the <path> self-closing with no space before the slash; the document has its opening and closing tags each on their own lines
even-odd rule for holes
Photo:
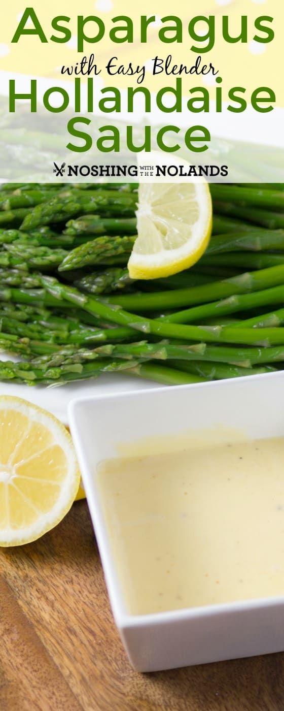
<svg viewBox="0 0 284 711">
<path fill-rule="evenodd" d="M 279 267 L 274 267 L 279 269 Z M 268 270 L 266 270 L 268 271 Z M 113 304 L 103 304 L 102 301 L 94 299 L 78 292 L 77 289 L 67 284 L 60 284 L 53 277 L 43 276 L 42 284 L 52 296 L 59 300 L 70 301 L 72 304 L 80 306 L 94 316 L 101 316 L 114 324 L 130 326 L 136 331 L 143 333 L 153 333 L 162 338 L 181 338 L 185 341 L 205 341 L 221 343 L 243 343 L 244 345 L 271 346 L 284 343 L 284 328 L 232 328 L 230 326 L 184 326 L 183 324 L 169 324 L 165 321 L 155 321 L 145 319 L 143 316 L 131 314 L 124 311 L 119 306 Z M 173 293 L 173 292 L 171 292 Z"/>
</svg>

